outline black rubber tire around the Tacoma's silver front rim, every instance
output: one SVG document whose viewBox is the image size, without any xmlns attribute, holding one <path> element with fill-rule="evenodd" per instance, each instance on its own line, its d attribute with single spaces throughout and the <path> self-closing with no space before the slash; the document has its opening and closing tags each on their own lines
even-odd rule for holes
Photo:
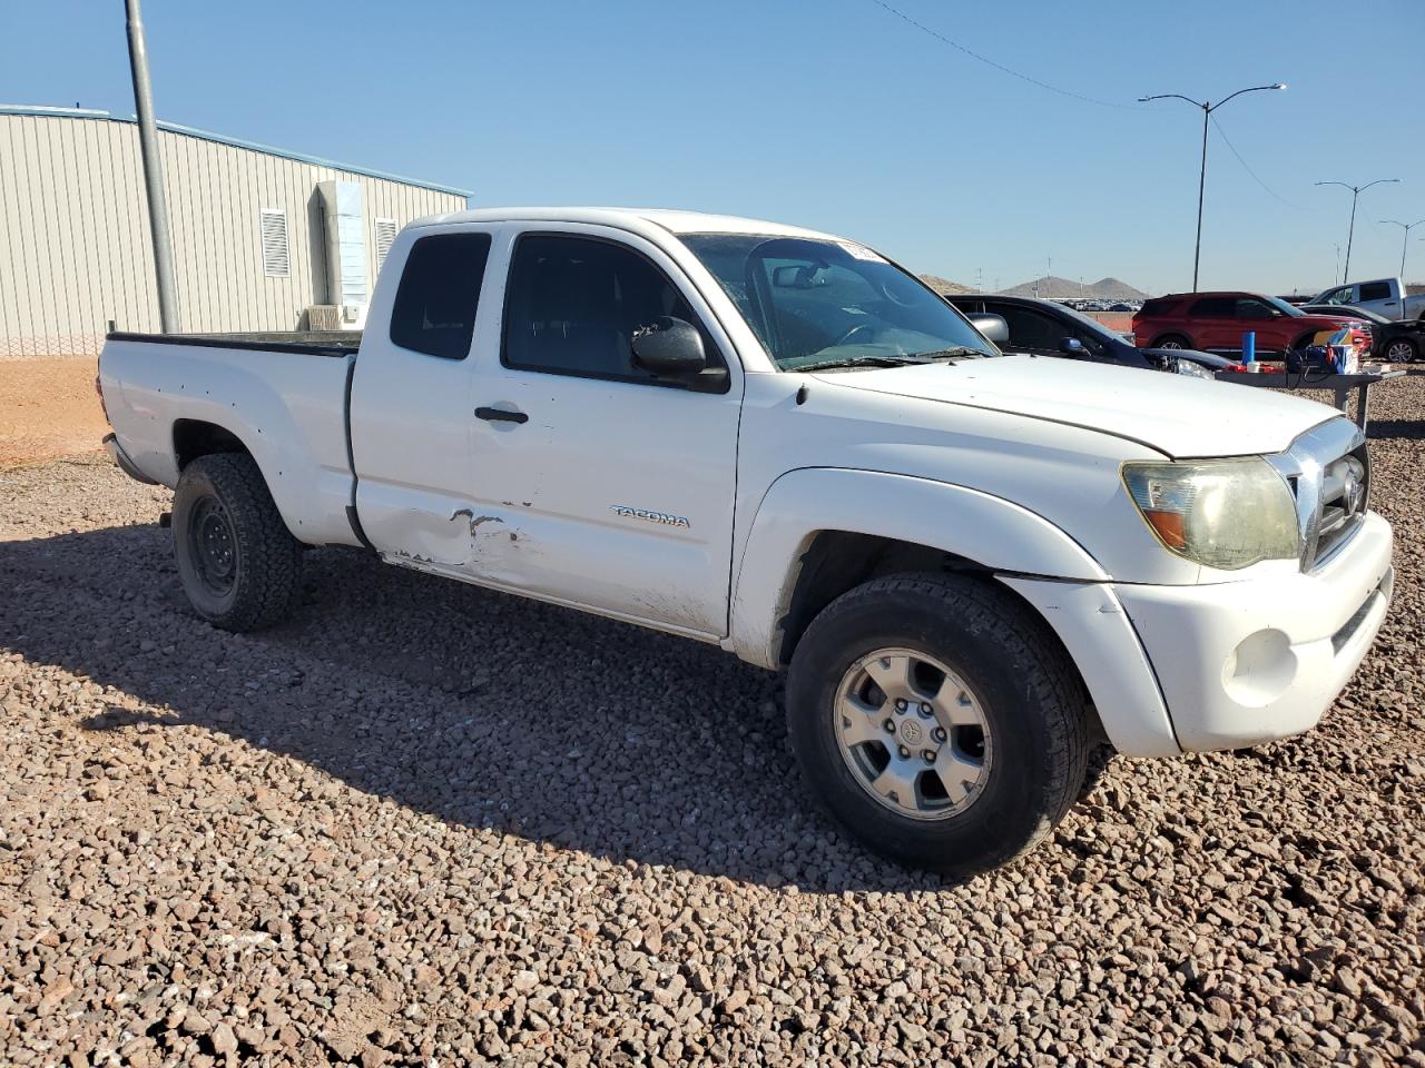
<svg viewBox="0 0 1425 1068">
<path fill-rule="evenodd" d="M 975 691 L 993 759 L 968 807 L 933 820 L 892 812 L 838 742 L 838 693 L 876 649 L 921 649 Z M 965 879 L 1030 850 L 1079 797 L 1090 752 L 1084 698 L 1045 624 L 1012 594 L 968 575 L 878 578 L 808 627 L 787 679 L 792 749 L 812 789 L 866 847 Z M 889 729 L 889 726 L 888 726 Z"/>
</svg>

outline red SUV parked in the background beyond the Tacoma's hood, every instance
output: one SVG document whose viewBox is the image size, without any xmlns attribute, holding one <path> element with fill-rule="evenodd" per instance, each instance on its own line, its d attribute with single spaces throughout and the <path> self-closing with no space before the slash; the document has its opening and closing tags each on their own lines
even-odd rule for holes
<svg viewBox="0 0 1425 1068">
<path fill-rule="evenodd" d="M 1261 293 L 1173 293 L 1143 305 L 1133 316 L 1133 343 L 1140 349 L 1206 349 L 1240 352 L 1243 335 L 1257 333 L 1258 352 L 1287 352 L 1351 328 L 1359 355 L 1371 352 L 1371 328 L 1340 315 L 1307 315 L 1285 300 Z"/>
</svg>

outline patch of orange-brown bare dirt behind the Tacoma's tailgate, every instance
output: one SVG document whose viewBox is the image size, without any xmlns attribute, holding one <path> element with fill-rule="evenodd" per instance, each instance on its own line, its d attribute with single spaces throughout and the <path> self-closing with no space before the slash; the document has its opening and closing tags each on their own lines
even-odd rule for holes
<svg viewBox="0 0 1425 1068">
<path fill-rule="evenodd" d="M 0 360 L 0 468 L 100 449 L 97 369 L 93 356 Z"/>
</svg>

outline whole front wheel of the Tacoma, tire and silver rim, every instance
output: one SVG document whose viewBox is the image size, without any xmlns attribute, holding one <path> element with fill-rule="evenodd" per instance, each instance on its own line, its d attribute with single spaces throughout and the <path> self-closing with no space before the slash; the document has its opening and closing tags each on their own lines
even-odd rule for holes
<svg viewBox="0 0 1425 1068">
<path fill-rule="evenodd" d="M 1090 748 L 1062 648 L 1007 591 L 962 575 L 834 601 L 797 646 L 787 715 L 812 789 L 855 837 L 953 877 L 1049 834 Z"/>
</svg>

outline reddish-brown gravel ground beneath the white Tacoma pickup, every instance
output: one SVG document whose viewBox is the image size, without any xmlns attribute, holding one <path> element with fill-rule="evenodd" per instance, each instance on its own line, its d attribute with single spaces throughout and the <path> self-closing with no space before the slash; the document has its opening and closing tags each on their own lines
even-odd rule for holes
<svg viewBox="0 0 1425 1068">
<path fill-rule="evenodd" d="M 1314 733 L 1114 760 L 1019 866 L 812 810 L 779 679 L 346 551 L 232 637 L 167 491 L 0 473 L 0 1062 L 1425 1065 L 1425 380 Z"/>
</svg>

